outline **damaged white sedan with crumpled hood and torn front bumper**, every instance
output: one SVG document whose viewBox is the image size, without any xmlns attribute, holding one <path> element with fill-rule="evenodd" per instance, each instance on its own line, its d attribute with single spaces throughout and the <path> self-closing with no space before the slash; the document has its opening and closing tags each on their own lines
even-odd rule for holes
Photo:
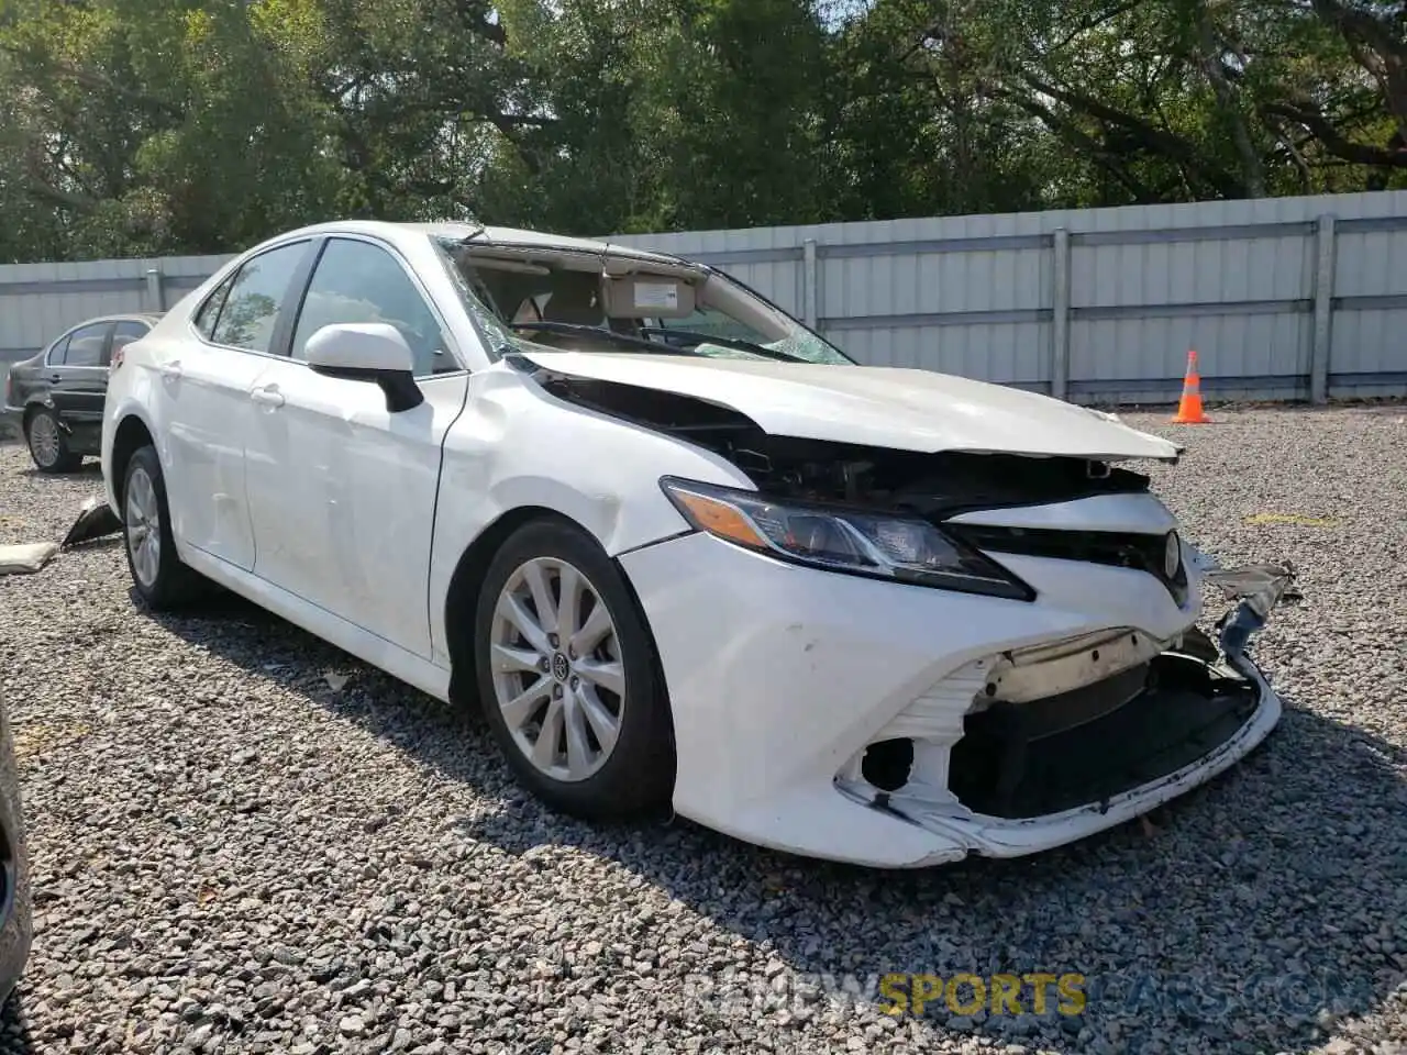
<svg viewBox="0 0 1407 1055">
<path fill-rule="evenodd" d="M 136 594 L 212 580 L 442 699 L 588 817 L 803 855 L 1013 857 L 1244 757 L 1292 570 L 1206 570 L 1089 409 L 857 366 L 720 271 L 345 222 L 242 255 L 114 356 Z"/>
</svg>

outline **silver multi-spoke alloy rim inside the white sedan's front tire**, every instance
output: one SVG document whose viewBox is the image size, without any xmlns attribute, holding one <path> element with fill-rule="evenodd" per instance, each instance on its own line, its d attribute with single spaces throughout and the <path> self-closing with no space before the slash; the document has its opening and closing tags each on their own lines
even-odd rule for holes
<svg viewBox="0 0 1407 1055">
<path fill-rule="evenodd" d="M 499 591 L 490 634 L 494 695 L 523 757 L 577 782 L 605 765 L 625 716 L 625 665 L 599 591 L 557 557 L 521 564 Z"/>
</svg>

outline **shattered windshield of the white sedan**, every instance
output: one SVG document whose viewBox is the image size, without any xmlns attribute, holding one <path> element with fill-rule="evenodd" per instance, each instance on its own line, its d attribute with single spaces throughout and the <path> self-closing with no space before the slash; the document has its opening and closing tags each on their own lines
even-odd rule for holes
<svg viewBox="0 0 1407 1055">
<path fill-rule="evenodd" d="M 719 271 L 552 246 L 439 242 L 495 356 L 643 352 L 784 363 L 854 363 Z"/>
</svg>

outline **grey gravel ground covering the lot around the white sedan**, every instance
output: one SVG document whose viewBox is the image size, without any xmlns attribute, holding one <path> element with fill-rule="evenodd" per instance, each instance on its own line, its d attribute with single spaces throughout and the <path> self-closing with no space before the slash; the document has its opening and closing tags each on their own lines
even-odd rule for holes
<svg viewBox="0 0 1407 1055">
<path fill-rule="evenodd" d="M 38 902 L 3 1037 L 1407 1052 L 1407 408 L 1216 416 L 1128 421 L 1190 445 L 1158 488 L 1196 542 L 1300 565 L 1256 648 L 1283 724 L 1151 826 L 1017 862 L 875 874 L 594 830 L 523 799 L 481 729 L 280 620 L 134 610 L 115 540 L 0 580 Z M 0 540 L 62 536 L 98 487 L 0 449 Z M 885 972 L 1076 972 L 1088 1003 L 891 1017 Z"/>
</svg>

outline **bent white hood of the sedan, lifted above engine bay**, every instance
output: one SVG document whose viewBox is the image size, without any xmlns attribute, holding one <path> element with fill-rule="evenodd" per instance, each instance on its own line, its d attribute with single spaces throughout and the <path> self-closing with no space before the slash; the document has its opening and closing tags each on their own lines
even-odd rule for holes
<svg viewBox="0 0 1407 1055">
<path fill-rule="evenodd" d="M 1180 453 L 1178 445 L 1096 411 L 931 370 L 639 353 L 522 356 L 559 374 L 729 407 L 774 436 L 924 454 L 954 450 L 1175 461 Z"/>
</svg>

